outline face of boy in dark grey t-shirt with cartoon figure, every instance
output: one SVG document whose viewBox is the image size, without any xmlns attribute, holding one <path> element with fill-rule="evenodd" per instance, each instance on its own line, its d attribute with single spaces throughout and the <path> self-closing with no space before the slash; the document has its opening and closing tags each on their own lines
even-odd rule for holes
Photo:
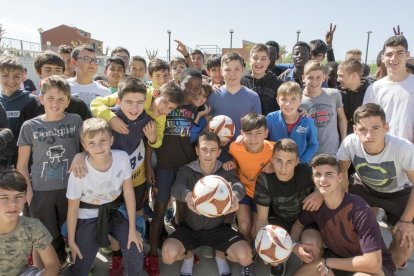
<svg viewBox="0 0 414 276">
<path fill-rule="evenodd" d="M 63 114 L 69 105 L 68 97 L 58 88 L 47 90 L 45 94 L 39 96 L 39 100 L 45 107 L 45 113 L 52 116 Z"/>
</svg>

